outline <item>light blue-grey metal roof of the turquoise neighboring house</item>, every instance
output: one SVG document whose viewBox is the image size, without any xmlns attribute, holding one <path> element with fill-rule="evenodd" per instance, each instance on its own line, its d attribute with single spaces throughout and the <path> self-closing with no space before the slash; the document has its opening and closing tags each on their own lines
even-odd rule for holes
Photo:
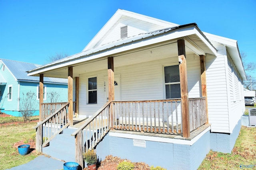
<svg viewBox="0 0 256 170">
<path fill-rule="evenodd" d="M 14 76 L 14 78 L 17 81 L 39 82 L 39 77 L 28 76 L 26 71 L 37 68 L 38 66 L 41 66 L 40 64 L 24 63 L 24 62 L 12 61 L 8 59 L 0 59 L 0 61 L 11 72 L 11 74 Z M 68 81 L 65 78 L 44 77 L 44 82 L 66 84 Z"/>
</svg>

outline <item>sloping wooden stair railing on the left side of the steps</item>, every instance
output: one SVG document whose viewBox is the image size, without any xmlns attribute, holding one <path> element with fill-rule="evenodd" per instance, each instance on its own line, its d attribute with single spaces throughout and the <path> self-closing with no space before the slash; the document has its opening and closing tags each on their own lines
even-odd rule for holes
<svg viewBox="0 0 256 170">
<path fill-rule="evenodd" d="M 46 146 L 52 138 L 68 127 L 70 124 L 68 107 L 69 102 L 34 127 L 36 129 L 36 152 L 42 152 L 42 147 Z M 44 143 L 42 143 L 43 139 Z"/>
</svg>

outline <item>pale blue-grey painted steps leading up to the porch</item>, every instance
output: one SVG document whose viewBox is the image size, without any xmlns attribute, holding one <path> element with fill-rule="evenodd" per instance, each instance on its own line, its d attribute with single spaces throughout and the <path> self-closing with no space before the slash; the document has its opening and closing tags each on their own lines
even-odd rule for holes
<svg viewBox="0 0 256 170">
<path fill-rule="evenodd" d="M 62 134 L 50 141 L 48 147 L 42 149 L 43 153 L 66 162 L 75 162 L 75 138 L 71 136 L 74 131 L 74 128 L 64 129 Z"/>
</svg>

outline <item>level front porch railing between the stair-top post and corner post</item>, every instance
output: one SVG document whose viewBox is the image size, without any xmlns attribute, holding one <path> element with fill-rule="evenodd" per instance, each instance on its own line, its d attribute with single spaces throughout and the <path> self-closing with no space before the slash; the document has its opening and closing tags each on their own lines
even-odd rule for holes
<svg viewBox="0 0 256 170">
<path fill-rule="evenodd" d="M 182 133 L 180 99 L 114 101 L 114 129 Z"/>
</svg>

